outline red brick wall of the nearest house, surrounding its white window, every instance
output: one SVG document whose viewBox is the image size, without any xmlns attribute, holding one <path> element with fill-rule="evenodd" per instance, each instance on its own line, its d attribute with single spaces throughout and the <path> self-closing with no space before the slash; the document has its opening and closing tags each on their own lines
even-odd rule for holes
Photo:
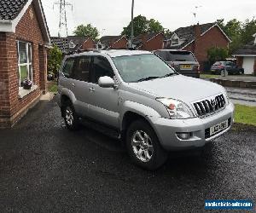
<svg viewBox="0 0 256 213">
<path fill-rule="evenodd" d="M 44 89 L 44 83 L 40 83 L 40 68 L 46 78 L 46 60 L 44 65 L 39 66 L 38 46 L 44 44 L 44 39 L 32 5 L 16 26 L 15 33 L 1 32 L 0 35 L 0 128 L 2 129 L 14 124 L 26 108 L 38 99 L 41 94 L 40 88 Z M 32 43 L 33 83 L 38 85 L 38 89 L 23 98 L 19 96 L 16 40 Z M 42 51 L 44 56 L 40 57 L 46 58 L 44 46 Z"/>
</svg>

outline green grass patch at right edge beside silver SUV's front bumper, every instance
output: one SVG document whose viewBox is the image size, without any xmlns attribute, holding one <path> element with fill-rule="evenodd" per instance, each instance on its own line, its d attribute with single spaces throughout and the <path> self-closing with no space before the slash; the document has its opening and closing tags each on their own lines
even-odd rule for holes
<svg viewBox="0 0 256 213">
<path fill-rule="evenodd" d="M 256 126 L 256 107 L 236 104 L 235 122 Z"/>
</svg>

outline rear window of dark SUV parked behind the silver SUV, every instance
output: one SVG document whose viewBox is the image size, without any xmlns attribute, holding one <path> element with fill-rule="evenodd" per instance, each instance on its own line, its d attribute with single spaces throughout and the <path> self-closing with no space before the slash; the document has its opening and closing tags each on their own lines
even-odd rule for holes
<svg viewBox="0 0 256 213">
<path fill-rule="evenodd" d="M 186 51 L 163 51 L 165 56 L 162 57 L 166 61 L 196 61 L 194 55 Z"/>
</svg>

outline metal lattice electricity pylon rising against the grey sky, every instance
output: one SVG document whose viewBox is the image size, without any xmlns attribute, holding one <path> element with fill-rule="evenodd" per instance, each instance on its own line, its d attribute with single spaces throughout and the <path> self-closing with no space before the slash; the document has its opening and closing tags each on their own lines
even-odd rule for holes
<svg viewBox="0 0 256 213">
<path fill-rule="evenodd" d="M 67 13 L 66 13 L 66 6 L 71 6 L 73 10 L 73 4 L 67 3 L 66 0 L 60 0 L 59 2 L 55 2 L 53 4 L 53 8 L 55 5 L 60 6 L 60 20 L 59 20 L 59 32 L 58 32 L 58 37 L 61 37 L 61 31 L 63 26 L 65 27 L 65 34 L 66 36 L 68 35 L 67 32 Z"/>
</svg>

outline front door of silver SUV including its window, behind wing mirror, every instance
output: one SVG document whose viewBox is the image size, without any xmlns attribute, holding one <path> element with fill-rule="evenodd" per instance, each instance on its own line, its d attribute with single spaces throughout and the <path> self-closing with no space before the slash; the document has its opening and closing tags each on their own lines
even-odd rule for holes
<svg viewBox="0 0 256 213">
<path fill-rule="evenodd" d="M 113 69 L 107 58 L 92 56 L 89 84 L 89 116 L 99 123 L 119 127 L 118 89 L 102 88 L 98 79 L 103 76 L 113 78 Z"/>
</svg>

